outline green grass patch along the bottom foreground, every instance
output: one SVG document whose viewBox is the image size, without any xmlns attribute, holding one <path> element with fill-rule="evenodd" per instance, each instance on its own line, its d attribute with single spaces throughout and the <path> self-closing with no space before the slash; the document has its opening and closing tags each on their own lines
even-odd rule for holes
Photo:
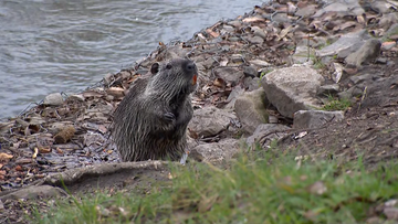
<svg viewBox="0 0 398 224">
<path fill-rule="evenodd" d="M 343 163 L 292 154 L 252 151 L 227 169 L 172 166 L 171 185 L 61 200 L 44 214 L 36 211 L 35 222 L 364 223 L 371 207 L 397 196 L 396 163 L 367 171 L 360 157 Z"/>
</svg>

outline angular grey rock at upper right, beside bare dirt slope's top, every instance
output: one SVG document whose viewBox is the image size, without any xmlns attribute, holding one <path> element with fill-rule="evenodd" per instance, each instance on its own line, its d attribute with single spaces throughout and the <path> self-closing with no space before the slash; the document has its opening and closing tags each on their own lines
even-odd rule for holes
<svg viewBox="0 0 398 224">
<path fill-rule="evenodd" d="M 346 57 L 346 63 L 359 67 L 364 63 L 375 61 L 380 55 L 381 42 L 376 39 L 371 39 L 365 42 L 365 44 L 356 52 Z"/>
</svg>

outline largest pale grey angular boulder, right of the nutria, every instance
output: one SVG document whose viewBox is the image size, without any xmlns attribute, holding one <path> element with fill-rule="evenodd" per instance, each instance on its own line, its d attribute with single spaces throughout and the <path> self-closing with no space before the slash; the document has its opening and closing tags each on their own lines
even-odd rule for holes
<svg viewBox="0 0 398 224">
<path fill-rule="evenodd" d="M 262 78 L 262 86 L 279 113 L 293 118 L 297 110 L 322 106 L 315 95 L 323 81 L 322 75 L 311 67 L 293 66 L 266 74 Z"/>
</svg>

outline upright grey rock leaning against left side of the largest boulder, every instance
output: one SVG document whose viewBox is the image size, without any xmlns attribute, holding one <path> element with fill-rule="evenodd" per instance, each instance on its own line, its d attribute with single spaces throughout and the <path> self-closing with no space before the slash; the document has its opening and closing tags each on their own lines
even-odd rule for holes
<svg viewBox="0 0 398 224">
<path fill-rule="evenodd" d="M 268 122 L 268 105 L 269 102 L 262 88 L 244 93 L 237 99 L 234 109 L 245 131 L 252 134 L 260 124 Z"/>
</svg>

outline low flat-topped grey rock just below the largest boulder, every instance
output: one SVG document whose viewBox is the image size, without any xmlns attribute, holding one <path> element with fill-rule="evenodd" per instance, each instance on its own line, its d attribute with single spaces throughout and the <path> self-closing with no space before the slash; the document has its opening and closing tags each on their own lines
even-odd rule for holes
<svg viewBox="0 0 398 224">
<path fill-rule="evenodd" d="M 318 128 L 344 119 L 344 111 L 298 110 L 294 113 L 293 128 Z"/>
</svg>

